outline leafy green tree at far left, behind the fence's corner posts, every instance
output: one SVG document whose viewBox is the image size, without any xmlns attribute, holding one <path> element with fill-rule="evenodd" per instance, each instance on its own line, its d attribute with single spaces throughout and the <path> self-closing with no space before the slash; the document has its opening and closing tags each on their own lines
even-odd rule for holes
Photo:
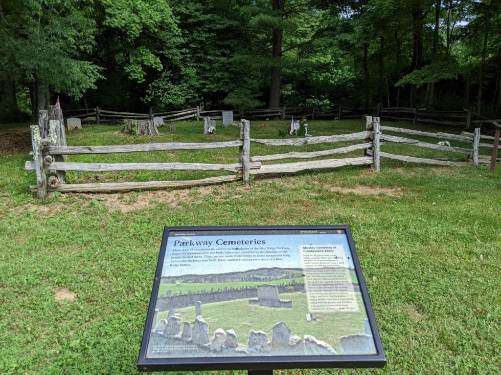
<svg viewBox="0 0 501 375">
<path fill-rule="evenodd" d="M 96 23 L 90 5 L 87 1 L 3 0 L 0 80 L 30 88 L 34 117 L 50 102 L 51 91 L 79 98 L 96 87 L 99 66 L 80 58 L 94 45 Z"/>
</svg>

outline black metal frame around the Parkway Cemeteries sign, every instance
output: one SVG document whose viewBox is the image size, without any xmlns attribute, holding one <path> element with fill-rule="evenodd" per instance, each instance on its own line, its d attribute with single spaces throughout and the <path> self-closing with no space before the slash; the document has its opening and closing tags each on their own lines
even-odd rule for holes
<svg viewBox="0 0 501 375">
<path fill-rule="evenodd" d="M 154 317 L 155 305 L 157 301 L 163 260 L 167 248 L 167 240 L 171 231 L 234 231 L 245 230 L 260 231 L 266 230 L 343 230 L 346 233 L 350 251 L 353 257 L 356 276 L 358 278 L 360 292 L 364 302 L 364 307 L 369 320 L 376 354 L 357 355 L 297 355 L 297 356 L 235 356 L 235 357 L 169 357 L 169 358 L 148 358 L 147 346 L 150 338 L 151 326 Z M 198 371 L 198 370 L 265 370 L 265 369 L 289 369 L 289 368 L 340 368 L 340 367 L 383 367 L 386 363 L 386 356 L 377 329 L 376 320 L 364 282 L 362 269 L 355 250 L 355 243 L 348 225 L 289 225 L 289 226 L 182 226 L 165 227 L 163 232 L 160 254 L 158 257 L 155 279 L 150 297 L 148 314 L 144 326 L 144 333 L 139 352 L 137 367 L 140 371 Z"/>
</svg>

